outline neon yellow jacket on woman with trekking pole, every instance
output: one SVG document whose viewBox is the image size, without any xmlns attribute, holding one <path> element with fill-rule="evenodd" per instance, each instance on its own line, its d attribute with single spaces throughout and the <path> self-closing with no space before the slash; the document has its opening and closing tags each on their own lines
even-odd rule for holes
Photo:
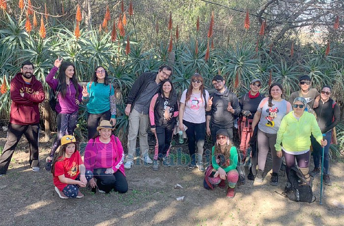
<svg viewBox="0 0 344 226">
<path fill-rule="evenodd" d="M 321 130 L 313 114 L 304 112 L 297 120 L 293 116 L 293 112 L 288 113 L 282 119 L 277 132 L 276 151 L 282 151 L 281 142 L 287 151 L 298 152 L 309 149 L 311 133 L 319 143 L 322 140 Z"/>
</svg>

